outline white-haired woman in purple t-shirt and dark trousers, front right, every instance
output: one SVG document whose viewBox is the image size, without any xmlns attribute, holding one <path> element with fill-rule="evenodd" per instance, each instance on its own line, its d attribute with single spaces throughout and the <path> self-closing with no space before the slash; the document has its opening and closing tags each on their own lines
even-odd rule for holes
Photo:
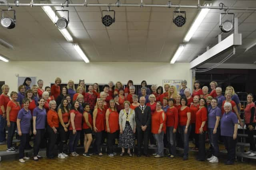
<svg viewBox="0 0 256 170">
<path fill-rule="evenodd" d="M 236 157 L 236 137 L 238 129 L 238 118 L 232 112 L 232 105 L 229 102 L 224 104 L 225 113 L 220 119 L 220 135 L 223 137 L 224 145 L 228 151 L 228 160 L 226 165 L 234 164 Z"/>
</svg>

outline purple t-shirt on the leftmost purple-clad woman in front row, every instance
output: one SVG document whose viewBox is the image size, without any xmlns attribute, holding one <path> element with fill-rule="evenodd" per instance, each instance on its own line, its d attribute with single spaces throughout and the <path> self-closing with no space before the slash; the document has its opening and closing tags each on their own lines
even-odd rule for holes
<svg viewBox="0 0 256 170">
<path fill-rule="evenodd" d="M 31 111 L 26 111 L 24 108 L 20 109 L 18 113 L 18 119 L 20 119 L 20 129 L 21 133 L 30 133 L 30 125 L 31 125 Z"/>
</svg>

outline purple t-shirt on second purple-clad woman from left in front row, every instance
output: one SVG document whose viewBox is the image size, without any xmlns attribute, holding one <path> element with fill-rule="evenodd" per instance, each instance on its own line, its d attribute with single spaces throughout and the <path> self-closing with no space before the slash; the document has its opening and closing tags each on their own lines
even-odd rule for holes
<svg viewBox="0 0 256 170">
<path fill-rule="evenodd" d="M 44 129 L 46 125 L 46 109 L 34 108 L 33 116 L 36 117 L 36 129 Z"/>
</svg>

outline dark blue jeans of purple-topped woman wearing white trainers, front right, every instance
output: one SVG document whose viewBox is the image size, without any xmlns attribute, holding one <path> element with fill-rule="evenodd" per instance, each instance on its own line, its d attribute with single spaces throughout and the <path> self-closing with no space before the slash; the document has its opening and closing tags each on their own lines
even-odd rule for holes
<svg viewBox="0 0 256 170">
<path fill-rule="evenodd" d="M 212 155 L 218 157 L 219 154 L 219 145 L 218 137 L 220 135 L 220 129 L 217 129 L 216 133 L 213 134 L 213 128 L 208 128 L 208 136 L 210 139 Z"/>
</svg>

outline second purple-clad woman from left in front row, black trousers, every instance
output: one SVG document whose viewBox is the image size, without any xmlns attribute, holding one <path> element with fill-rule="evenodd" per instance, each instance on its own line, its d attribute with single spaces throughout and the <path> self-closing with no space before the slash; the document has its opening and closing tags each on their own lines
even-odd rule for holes
<svg viewBox="0 0 256 170">
<path fill-rule="evenodd" d="M 35 135 L 34 141 L 34 158 L 38 161 L 38 158 L 42 158 L 38 154 L 41 140 L 44 138 L 46 124 L 46 109 L 44 108 L 44 99 L 41 98 L 38 101 L 38 107 L 33 110 L 33 134 Z"/>
</svg>

